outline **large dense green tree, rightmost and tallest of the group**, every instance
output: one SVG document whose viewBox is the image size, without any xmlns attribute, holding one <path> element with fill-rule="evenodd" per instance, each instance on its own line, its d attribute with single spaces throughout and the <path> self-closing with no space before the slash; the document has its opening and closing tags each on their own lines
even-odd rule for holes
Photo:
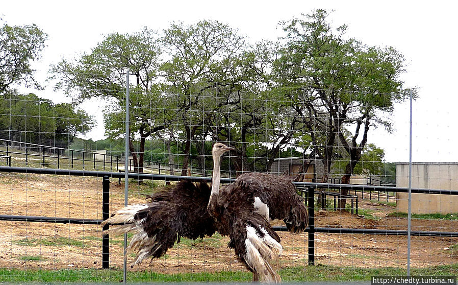
<svg viewBox="0 0 458 285">
<path fill-rule="evenodd" d="M 327 181 L 340 140 L 350 156 L 342 182 L 349 183 L 370 126 L 390 130 L 387 114 L 395 102 L 406 98 L 407 90 L 399 79 L 404 58 L 392 47 L 380 49 L 345 39 L 346 26 L 334 31 L 327 16 L 325 10 L 316 10 L 284 22 L 287 35 L 276 67 L 279 83 L 295 88 L 295 109 L 310 129 L 315 155 L 325 164 L 321 182 Z M 344 130 L 350 127 L 354 132 L 347 140 Z M 343 189 L 341 194 L 347 191 Z M 345 202 L 339 200 L 340 209 L 345 208 Z"/>
</svg>

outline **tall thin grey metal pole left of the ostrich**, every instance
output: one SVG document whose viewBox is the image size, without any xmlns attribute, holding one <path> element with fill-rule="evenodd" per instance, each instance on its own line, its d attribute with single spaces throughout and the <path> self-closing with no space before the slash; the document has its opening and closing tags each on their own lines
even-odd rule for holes
<svg viewBox="0 0 458 285">
<path fill-rule="evenodd" d="M 124 159 L 124 206 L 127 206 L 129 193 L 129 75 L 127 70 L 125 76 L 125 159 Z M 127 233 L 124 233 L 124 268 L 123 283 L 126 283 L 127 277 Z"/>
</svg>

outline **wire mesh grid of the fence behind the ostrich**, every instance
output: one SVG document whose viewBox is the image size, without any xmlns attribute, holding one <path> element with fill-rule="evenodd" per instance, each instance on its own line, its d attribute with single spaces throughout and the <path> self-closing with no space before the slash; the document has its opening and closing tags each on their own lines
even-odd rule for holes
<svg viewBox="0 0 458 285">
<path fill-rule="evenodd" d="M 125 170 L 125 90 L 93 91 L 112 94 L 103 101 L 107 106 L 103 122 L 95 121 L 96 113 L 34 94 L 0 97 L 0 163 L 4 166 L 0 172 L 0 215 L 103 220 L 101 176 Z M 186 94 L 167 89 L 138 92 L 135 86 L 130 92 L 129 171 L 164 178 L 132 179 L 129 204 L 144 203 L 144 194 L 165 186 L 169 175 L 211 177 L 211 148 L 220 141 L 235 148 L 222 160 L 223 177 L 236 178 L 244 172 L 303 172 L 303 182 L 326 183 L 315 189 L 315 227 L 354 232 L 407 230 L 408 196 L 397 189 L 408 187 L 407 157 L 385 161 L 384 150 L 370 143 L 372 134 L 392 127 L 389 117 L 394 102 L 405 99 L 405 94 L 254 88 L 216 82 L 197 84 Z M 339 100 L 332 102 L 332 98 Z M 409 124 L 409 118 L 396 124 Z M 84 139 L 82 134 L 94 128 L 107 138 Z M 399 148 L 407 153 L 409 146 Z M 102 174 L 23 173 L 15 168 Z M 456 172 L 458 162 L 415 162 L 412 187 L 456 191 Z M 124 204 L 124 179 L 112 176 L 109 181 L 112 213 Z M 367 187 L 347 189 L 340 184 Z M 297 188 L 300 193 L 301 186 Z M 456 265 L 456 235 L 427 233 L 456 233 L 457 197 L 412 194 L 412 231 L 426 232 L 412 235 L 412 268 Z M 23 272 L 103 268 L 103 237 L 98 224 L 30 220 L 0 221 L 1 268 Z M 272 221 L 272 225 L 284 223 Z M 314 264 L 329 266 L 329 271 L 406 268 L 406 235 L 354 232 L 316 232 Z M 275 270 L 310 266 L 308 233 L 278 234 L 284 252 Z M 218 233 L 195 241 L 182 238 L 164 257 L 135 266 L 128 275 L 246 272 L 227 242 L 228 238 Z M 128 254 L 128 262 L 133 256 Z M 122 236 L 110 236 L 109 268 L 122 270 L 123 258 Z"/>
</svg>

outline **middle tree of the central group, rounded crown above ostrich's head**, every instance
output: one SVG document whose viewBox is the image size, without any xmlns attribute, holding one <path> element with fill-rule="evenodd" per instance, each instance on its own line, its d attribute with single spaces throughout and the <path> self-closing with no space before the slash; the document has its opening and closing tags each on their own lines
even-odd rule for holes
<svg viewBox="0 0 458 285">
<path fill-rule="evenodd" d="M 171 108 L 183 129 L 182 175 L 186 175 L 191 142 L 199 133 L 211 132 L 215 113 L 232 103 L 230 95 L 239 88 L 235 63 L 244 38 L 223 23 L 199 21 L 189 26 L 172 23 L 162 42 L 170 55 L 161 67 L 164 90 L 174 98 Z"/>
</svg>

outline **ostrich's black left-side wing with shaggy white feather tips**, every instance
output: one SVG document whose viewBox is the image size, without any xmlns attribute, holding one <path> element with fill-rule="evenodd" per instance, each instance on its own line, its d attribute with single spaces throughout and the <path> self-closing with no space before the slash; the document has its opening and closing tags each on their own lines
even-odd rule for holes
<svg viewBox="0 0 458 285">
<path fill-rule="evenodd" d="M 209 197 L 206 183 L 180 181 L 147 197 L 149 203 L 129 205 L 114 212 L 102 226 L 122 225 L 104 234 L 134 233 L 128 247 L 130 252 L 136 252 L 133 267 L 146 257 L 161 257 L 175 242 L 180 242 L 181 236 L 195 240 L 215 233 L 215 222 L 207 210 Z"/>
</svg>

